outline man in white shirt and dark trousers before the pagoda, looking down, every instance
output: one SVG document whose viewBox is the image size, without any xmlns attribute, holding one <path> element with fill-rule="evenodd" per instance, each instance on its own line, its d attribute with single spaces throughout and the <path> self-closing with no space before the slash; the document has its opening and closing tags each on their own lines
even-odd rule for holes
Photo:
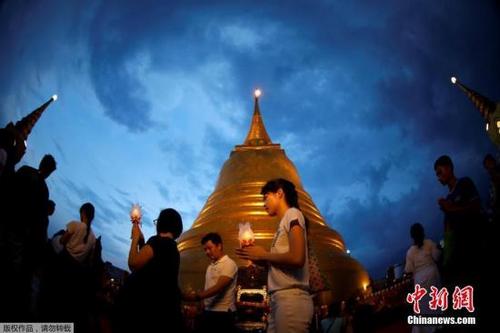
<svg viewBox="0 0 500 333">
<path fill-rule="evenodd" d="M 187 298 L 204 301 L 205 311 L 200 321 L 204 331 L 233 332 L 238 266 L 224 254 L 219 234 L 211 232 L 205 235 L 201 244 L 212 261 L 205 274 L 205 290 L 194 292 Z"/>
</svg>

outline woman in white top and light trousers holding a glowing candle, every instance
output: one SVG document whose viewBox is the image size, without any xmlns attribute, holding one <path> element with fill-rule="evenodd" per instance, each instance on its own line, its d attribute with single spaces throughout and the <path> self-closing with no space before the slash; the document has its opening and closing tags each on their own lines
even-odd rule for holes
<svg viewBox="0 0 500 333">
<path fill-rule="evenodd" d="M 262 187 L 261 194 L 267 213 L 280 219 L 271 250 L 253 245 L 236 253 L 242 259 L 269 264 L 267 332 L 309 332 L 314 308 L 309 294 L 307 229 L 295 185 L 286 179 L 273 179 Z"/>
</svg>

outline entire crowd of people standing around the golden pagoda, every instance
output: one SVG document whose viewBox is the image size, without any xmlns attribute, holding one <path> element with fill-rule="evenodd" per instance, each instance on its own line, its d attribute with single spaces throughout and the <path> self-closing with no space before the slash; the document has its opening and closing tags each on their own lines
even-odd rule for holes
<svg viewBox="0 0 500 333">
<path fill-rule="evenodd" d="M 410 235 L 414 244 L 405 263 L 406 273 L 424 288 L 474 286 L 477 314 L 483 310 L 485 291 L 491 286 L 485 280 L 488 274 L 484 261 L 478 258 L 491 259 L 485 258 L 485 253 L 493 252 L 492 237 L 500 216 L 500 167 L 492 155 L 487 155 L 484 168 L 491 179 L 486 210 L 473 181 L 455 176 L 451 158 L 444 155 L 436 160 L 437 179 L 448 187 L 446 197 L 437 200 L 444 215 L 444 241 L 438 245 L 427 239 L 423 226 L 413 224 Z M 37 169 L 23 166 L 17 171 L 0 170 L 0 264 L 5 268 L 0 274 L 0 322 L 74 322 L 81 332 L 183 332 L 187 330 L 181 311 L 184 301 L 203 303 L 196 329 L 235 331 L 235 261 L 224 252 L 223 239 L 216 230 L 204 235 L 200 243 L 210 259 L 205 287 L 180 290 L 176 239 L 183 223 L 173 208 L 160 211 L 154 221 L 156 235 L 147 241 L 140 220 L 132 217 L 128 256 L 132 273 L 105 314 L 109 325 L 103 328 L 95 297 L 103 273 L 100 237 L 92 230 L 95 208 L 90 202 L 84 203 L 79 218 L 48 239 L 49 217 L 56 206 L 50 200 L 46 179 L 55 170 L 51 155 L 45 155 Z M 368 318 L 373 308 L 363 304 L 356 307 L 350 301 L 320 309 L 318 319 L 310 293 L 308 223 L 295 186 L 285 179 L 273 179 L 262 187 L 261 194 L 266 212 L 280 221 L 271 248 L 251 244 L 237 249 L 236 255 L 268 268 L 267 332 L 310 332 L 313 326 L 316 331 L 329 333 L 369 329 L 370 322 L 363 318 Z M 426 304 L 428 300 L 424 299 L 422 314 L 432 315 Z M 322 321 L 314 325 L 313 318 Z M 436 329 L 415 326 L 413 331 Z"/>
</svg>

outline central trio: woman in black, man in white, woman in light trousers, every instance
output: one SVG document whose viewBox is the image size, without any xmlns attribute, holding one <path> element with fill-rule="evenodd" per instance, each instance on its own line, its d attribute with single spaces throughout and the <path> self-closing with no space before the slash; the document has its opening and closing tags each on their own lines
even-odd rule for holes
<svg viewBox="0 0 500 333">
<path fill-rule="evenodd" d="M 313 301 L 309 293 L 306 220 L 299 210 L 295 186 L 274 179 L 262 188 L 264 207 L 280 219 L 270 251 L 258 245 L 237 250 L 244 260 L 268 265 L 270 313 L 268 332 L 309 332 Z M 183 327 L 181 301 L 202 301 L 204 311 L 197 329 L 206 332 L 234 332 L 238 267 L 224 253 L 216 232 L 205 235 L 201 244 L 211 263 L 205 288 L 181 291 L 177 284 L 180 256 L 175 239 L 182 232 L 182 219 L 173 209 L 160 212 L 157 235 L 144 242 L 138 221 L 132 221 L 129 267 L 114 316 L 117 332 L 180 332 Z M 141 241 L 142 240 L 142 241 Z M 296 315 L 300 313 L 300 315 Z"/>
</svg>

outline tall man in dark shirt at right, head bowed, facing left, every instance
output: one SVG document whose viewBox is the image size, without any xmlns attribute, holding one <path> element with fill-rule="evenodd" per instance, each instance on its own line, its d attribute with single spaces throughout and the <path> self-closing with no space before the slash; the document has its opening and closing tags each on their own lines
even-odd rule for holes
<svg viewBox="0 0 500 333">
<path fill-rule="evenodd" d="M 434 170 L 439 182 L 449 189 L 446 198 L 438 199 L 444 213 L 443 282 L 451 288 L 476 287 L 483 223 L 479 193 L 470 178 L 455 176 L 449 156 L 439 157 Z"/>
</svg>

